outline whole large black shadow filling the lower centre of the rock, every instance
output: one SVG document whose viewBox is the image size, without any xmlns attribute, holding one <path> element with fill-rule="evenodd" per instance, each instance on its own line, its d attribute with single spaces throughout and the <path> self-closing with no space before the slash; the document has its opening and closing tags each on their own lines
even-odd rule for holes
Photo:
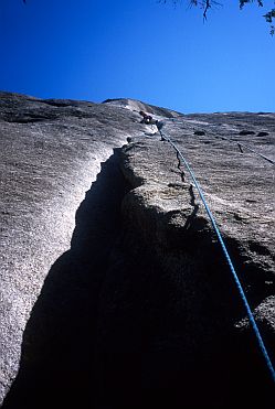
<svg viewBox="0 0 275 409">
<path fill-rule="evenodd" d="M 129 206 L 121 216 L 118 153 L 46 277 L 3 409 L 268 408 L 269 374 L 252 332 L 235 327 L 245 311 L 192 185 L 188 234 L 173 214 Z M 229 249 L 239 269 L 237 244 Z"/>
</svg>

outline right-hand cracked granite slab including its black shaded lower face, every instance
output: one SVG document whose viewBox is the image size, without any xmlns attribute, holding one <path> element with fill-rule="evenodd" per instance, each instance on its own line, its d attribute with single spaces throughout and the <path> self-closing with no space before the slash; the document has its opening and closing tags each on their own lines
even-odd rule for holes
<svg viewBox="0 0 275 409">
<path fill-rule="evenodd" d="M 198 176 L 273 362 L 274 165 L 228 138 L 274 160 L 274 114 L 235 112 L 182 116 L 162 129 Z M 176 151 L 154 132 L 121 151 L 133 190 L 102 290 L 98 351 L 114 353 L 103 377 L 110 387 L 114 356 L 126 351 L 116 387 L 134 367 L 139 406 L 268 408 L 269 374 L 208 215 Z"/>
</svg>

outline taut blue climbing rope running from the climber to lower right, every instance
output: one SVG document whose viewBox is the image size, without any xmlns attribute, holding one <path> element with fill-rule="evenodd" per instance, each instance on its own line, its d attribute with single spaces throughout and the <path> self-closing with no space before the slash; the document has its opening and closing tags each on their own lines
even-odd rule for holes
<svg viewBox="0 0 275 409">
<path fill-rule="evenodd" d="M 228 261 L 229 267 L 230 267 L 230 269 L 231 269 L 231 272 L 232 272 L 232 275 L 233 275 L 233 278 L 234 278 L 234 281 L 235 281 L 235 283 L 236 283 L 237 290 L 239 290 L 239 292 L 240 292 L 241 299 L 242 299 L 242 301 L 243 301 L 243 303 L 244 303 L 244 308 L 245 308 L 245 310 L 246 310 L 246 312 L 247 312 L 248 320 L 250 320 L 250 322 L 251 322 L 252 329 L 253 329 L 254 334 L 255 334 L 255 336 L 256 336 L 256 340 L 257 340 L 257 343 L 258 343 L 258 346 L 260 346 L 261 353 L 262 353 L 262 355 L 263 355 L 263 357 L 264 357 L 264 359 L 265 359 L 265 363 L 266 363 L 267 368 L 268 368 L 268 370 L 269 370 L 269 373 L 271 373 L 272 379 L 273 379 L 273 381 L 275 383 L 275 369 L 274 369 L 274 367 L 273 367 L 273 364 L 272 364 L 271 358 L 269 358 L 269 356 L 268 356 L 268 353 L 267 353 L 267 351 L 266 351 L 265 344 L 264 344 L 263 338 L 262 338 L 262 336 L 261 336 L 261 333 L 260 333 L 260 330 L 258 330 L 258 327 L 257 327 L 256 321 L 255 321 L 255 319 L 254 319 L 254 316 L 253 316 L 252 310 L 251 310 L 251 308 L 250 308 L 248 301 L 247 301 L 247 299 L 246 299 L 246 295 L 245 295 L 245 293 L 244 293 L 244 290 L 243 290 L 243 288 L 242 288 L 242 284 L 241 284 L 240 280 L 239 280 L 237 275 L 236 275 L 235 268 L 234 268 L 234 266 L 233 266 L 233 262 L 232 262 L 232 260 L 231 260 L 231 257 L 230 257 L 230 255 L 229 255 L 229 251 L 228 251 L 228 249 L 226 249 L 226 246 L 225 246 L 225 244 L 224 244 L 224 241 L 223 241 L 223 238 L 222 238 L 221 232 L 220 232 L 220 229 L 219 229 L 219 227 L 218 227 L 218 225 L 216 225 L 216 223 L 215 223 L 215 219 L 214 219 L 214 217 L 213 217 L 213 215 L 212 215 L 212 213 L 211 213 L 211 211 L 210 211 L 210 207 L 209 207 L 209 205 L 208 205 L 208 203 L 207 203 L 207 201 L 205 201 L 205 197 L 204 197 L 204 194 L 203 194 L 203 192 L 202 192 L 202 189 L 201 189 L 199 182 L 197 181 L 195 175 L 194 175 L 192 169 L 190 168 L 188 161 L 186 160 L 186 158 L 183 157 L 183 154 L 180 152 L 180 150 L 178 149 L 178 147 L 177 147 L 177 146 L 171 141 L 171 139 L 170 139 L 169 137 L 167 137 L 166 134 L 163 134 L 163 132 L 161 132 L 161 130 L 159 130 L 159 133 L 160 133 L 160 136 L 161 136 L 161 140 L 166 140 L 167 142 L 169 142 L 169 143 L 172 146 L 172 148 L 176 150 L 178 158 L 181 159 L 181 161 L 183 162 L 183 164 L 184 164 L 186 168 L 188 169 L 188 171 L 189 171 L 189 173 L 190 173 L 190 175 L 191 175 L 191 177 L 192 177 L 192 180 L 193 180 L 193 182 L 194 182 L 194 185 L 195 185 L 195 187 L 197 187 L 197 190 L 198 190 L 198 192 L 199 192 L 199 195 L 200 195 L 200 197 L 201 197 L 201 201 L 202 201 L 202 203 L 203 203 L 203 205 L 204 205 L 204 207 L 205 207 L 205 211 L 207 211 L 207 213 L 208 213 L 208 215 L 209 215 L 209 218 L 210 218 L 210 220 L 211 220 L 211 223 L 212 223 L 212 226 L 213 226 L 213 228 L 214 228 L 214 232 L 215 232 L 215 234 L 216 234 L 216 236 L 218 236 L 218 239 L 219 239 L 219 241 L 220 241 L 220 245 L 221 245 L 221 247 L 222 247 L 222 250 L 223 250 L 223 252 L 224 252 L 224 256 L 225 256 L 225 258 L 226 258 L 226 261 Z"/>
</svg>

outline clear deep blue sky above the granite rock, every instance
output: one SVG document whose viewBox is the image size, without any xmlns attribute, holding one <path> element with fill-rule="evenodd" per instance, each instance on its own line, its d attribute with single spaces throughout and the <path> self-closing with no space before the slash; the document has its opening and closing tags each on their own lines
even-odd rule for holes
<svg viewBox="0 0 275 409">
<path fill-rule="evenodd" d="M 135 98 L 181 112 L 275 111 L 274 1 L 0 0 L 0 89 Z"/>
</svg>

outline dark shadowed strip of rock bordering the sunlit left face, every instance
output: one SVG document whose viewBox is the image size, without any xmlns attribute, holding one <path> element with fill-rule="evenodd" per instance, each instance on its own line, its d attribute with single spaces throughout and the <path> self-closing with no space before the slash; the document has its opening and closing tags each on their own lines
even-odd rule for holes
<svg viewBox="0 0 275 409">
<path fill-rule="evenodd" d="M 4 409 L 95 407 L 97 302 L 126 191 L 115 150 L 76 212 L 71 249 L 51 267 L 33 306 Z"/>
</svg>

